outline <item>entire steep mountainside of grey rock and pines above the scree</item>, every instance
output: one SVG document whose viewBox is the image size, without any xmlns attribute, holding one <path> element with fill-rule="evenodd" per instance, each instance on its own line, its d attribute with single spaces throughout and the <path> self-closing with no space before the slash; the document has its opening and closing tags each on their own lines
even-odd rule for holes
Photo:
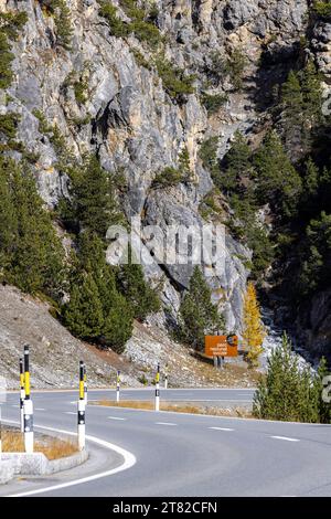
<svg viewBox="0 0 331 519">
<path fill-rule="evenodd" d="M 1 0 L 0 59 L 2 283 L 120 353 L 134 319 L 196 349 L 242 331 L 250 278 L 330 356 L 330 1 Z M 149 261 L 109 265 L 134 215 L 224 224 L 223 272 L 142 231 Z"/>
</svg>

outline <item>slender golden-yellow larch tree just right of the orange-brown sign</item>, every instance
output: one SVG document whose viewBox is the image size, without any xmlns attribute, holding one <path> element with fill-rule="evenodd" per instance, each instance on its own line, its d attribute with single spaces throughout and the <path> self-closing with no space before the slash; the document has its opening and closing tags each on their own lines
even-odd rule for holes
<svg viewBox="0 0 331 519">
<path fill-rule="evenodd" d="M 252 282 L 248 283 L 247 292 L 244 297 L 243 322 L 243 339 L 248 351 L 247 359 L 252 367 L 257 367 L 258 358 L 263 352 L 261 345 L 265 338 L 265 330 L 261 322 L 256 290 Z"/>
</svg>

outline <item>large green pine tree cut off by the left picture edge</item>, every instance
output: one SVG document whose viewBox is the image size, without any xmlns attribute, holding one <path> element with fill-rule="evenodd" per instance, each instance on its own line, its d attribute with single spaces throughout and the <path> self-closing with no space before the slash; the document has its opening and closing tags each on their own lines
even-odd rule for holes
<svg viewBox="0 0 331 519">
<path fill-rule="evenodd" d="M 57 298 L 65 277 L 64 251 L 24 165 L 0 159 L 1 277 L 22 290 Z"/>
</svg>

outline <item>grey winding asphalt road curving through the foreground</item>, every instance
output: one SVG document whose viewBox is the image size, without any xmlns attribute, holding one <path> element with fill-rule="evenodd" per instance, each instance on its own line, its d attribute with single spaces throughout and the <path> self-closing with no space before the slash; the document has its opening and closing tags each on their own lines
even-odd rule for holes
<svg viewBox="0 0 331 519">
<path fill-rule="evenodd" d="M 166 391 L 161 391 L 164 399 Z M 252 390 L 167 390 L 167 401 L 252 401 Z M 89 399 L 114 399 L 89 391 Z M 132 390 L 126 399 L 152 398 Z M 35 392 L 35 425 L 76 430 L 76 392 Z M 2 405 L 18 420 L 18 394 Z M 0 495 L 41 496 L 331 496 L 331 425 L 224 419 L 88 406 L 86 464 L 17 480 Z M 106 442 L 126 453 L 107 448 Z M 128 468 L 126 468 L 128 467 Z"/>
</svg>

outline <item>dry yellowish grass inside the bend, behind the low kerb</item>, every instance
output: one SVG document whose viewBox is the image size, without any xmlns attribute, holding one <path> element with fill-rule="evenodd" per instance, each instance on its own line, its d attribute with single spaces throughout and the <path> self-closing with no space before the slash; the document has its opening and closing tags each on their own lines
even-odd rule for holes
<svg viewBox="0 0 331 519">
<path fill-rule="evenodd" d="M 2 431 L 2 451 L 4 453 L 23 453 L 24 441 L 22 433 L 14 430 Z M 70 441 L 43 435 L 34 442 L 34 452 L 43 453 L 47 459 L 52 460 L 71 456 L 78 452 L 78 447 Z"/>
</svg>

